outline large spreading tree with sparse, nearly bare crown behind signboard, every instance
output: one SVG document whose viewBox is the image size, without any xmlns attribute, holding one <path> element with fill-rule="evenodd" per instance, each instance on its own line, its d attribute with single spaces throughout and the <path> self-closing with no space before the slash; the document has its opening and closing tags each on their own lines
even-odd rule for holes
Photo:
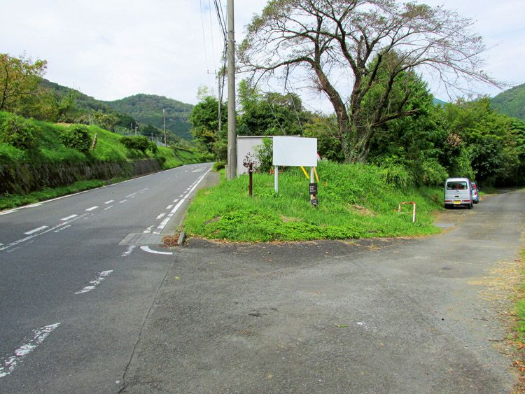
<svg viewBox="0 0 525 394">
<path fill-rule="evenodd" d="M 288 76 L 305 68 L 337 115 L 346 161 L 364 162 L 374 132 L 412 115 L 407 74 L 433 70 L 444 87 L 494 83 L 480 69 L 473 21 L 442 7 L 395 0 L 270 0 L 239 48 L 244 71 Z M 348 92 L 348 93 L 345 93 Z"/>
</svg>

